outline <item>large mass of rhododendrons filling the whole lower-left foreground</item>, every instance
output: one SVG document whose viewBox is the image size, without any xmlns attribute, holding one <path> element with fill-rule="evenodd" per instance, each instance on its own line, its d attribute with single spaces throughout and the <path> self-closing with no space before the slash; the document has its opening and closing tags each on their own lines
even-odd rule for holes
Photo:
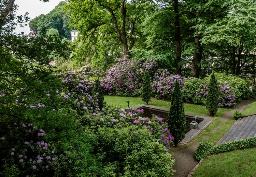
<svg viewBox="0 0 256 177">
<path fill-rule="evenodd" d="M 42 77 L 0 95 L 0 176 L 117 176 L 133 174 L 137 166 L 144 171 L 135 176 L 148 170 L 172 175 L 173 137 L 161 118 L 100 109 L 90 79 L 95 72 L 87 67 L 37 72 Z"/>
</svg>

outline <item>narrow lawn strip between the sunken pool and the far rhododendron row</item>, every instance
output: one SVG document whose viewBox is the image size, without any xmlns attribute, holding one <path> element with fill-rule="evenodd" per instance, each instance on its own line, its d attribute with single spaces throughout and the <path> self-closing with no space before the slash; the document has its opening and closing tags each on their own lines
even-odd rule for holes
<svg viewBox="0 0 256 177">
<path fill-rule="evenodd" d="M 117 105 L 121 108 L 126 108 L 126 100 L 130 101 L 130 107 L 135 107 L 141 104 L 146 104 L 139 97 L 123 97 L 123 96 L 104 96 L 104 101 L 109 105 Z M 169 109 L 171 106 L 170 101 L 152 99 L 152 102 L 148 103 L 151 106 Z M 208 116 L 207 109 L 203 105 L 195 105 L 184 103 L 184 110 L 186 113 L 196 114 L 198 116 Z M 218 109 L 217 116 L 222 116 L 227 110 L 225 108 Z M 209 117 L 209 116 L 208 116 Z"/>
</svg>

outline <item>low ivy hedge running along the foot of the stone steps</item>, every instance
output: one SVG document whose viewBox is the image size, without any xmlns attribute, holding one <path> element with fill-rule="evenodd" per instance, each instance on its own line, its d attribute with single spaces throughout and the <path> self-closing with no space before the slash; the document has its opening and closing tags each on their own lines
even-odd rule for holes
<svg viewBox="0 0 256 177">
<path fill-rule="evenodd" d="M 196 150 L 195 157 L 197 160 L 201 160 L 211 154 L 224 153 L 236 149 L 245 149 L 251 147 L 256 147 L 256 137 L 227 142 L 217 146 L 213 146 L 209 142 L 201 142 Z"/>
</svg>

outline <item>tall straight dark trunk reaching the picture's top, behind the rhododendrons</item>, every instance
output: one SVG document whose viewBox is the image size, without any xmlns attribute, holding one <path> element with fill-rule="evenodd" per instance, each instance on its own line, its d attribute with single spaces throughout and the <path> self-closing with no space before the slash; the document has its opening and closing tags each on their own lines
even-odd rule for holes
<svg viewBox="0 0 256 177">
<path fill-rule="evenodd" d="M 179 63 L 181 61 L 181 29 L 180 29 L 180 14 L 179 14 L 179 4 L 178 0 L 173 0 L 174 7 L 174 25 L 175 25 L 175 52 L 176 52 L 176 60 L 175 60 L 175 68 L 176 74 L 181 75 L 181 67 L 179 67 Z"/>
</svg>

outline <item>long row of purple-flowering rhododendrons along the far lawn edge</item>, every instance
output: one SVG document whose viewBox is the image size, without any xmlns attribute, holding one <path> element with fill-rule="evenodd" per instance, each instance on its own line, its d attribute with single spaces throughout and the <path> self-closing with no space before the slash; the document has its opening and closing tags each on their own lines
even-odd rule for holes
<svg viewBox="0 0 256 177">
<path fill-rule="evenodd" d="M 158 66 L 156 58 L 148 58 L 145 61 L 117 59 L 102 79 L 102 90 L 104 94 L 109 95 L 140 96 L 143 72 L 148 71 L 152 77 L 152 95 L 155 98 L 171 100 L 174 83 L 178 80 L 184 102 L 205 104 L 209 77 L 197 79 L 172 75 L 167 69 L 160 69 Z M 250 90 L 245 79 L 220 73 L 216 74 L 216 78 L 219 82 L 219 107 L 233 107 L 241 99 L 248 98 Z"/>
</svg>

